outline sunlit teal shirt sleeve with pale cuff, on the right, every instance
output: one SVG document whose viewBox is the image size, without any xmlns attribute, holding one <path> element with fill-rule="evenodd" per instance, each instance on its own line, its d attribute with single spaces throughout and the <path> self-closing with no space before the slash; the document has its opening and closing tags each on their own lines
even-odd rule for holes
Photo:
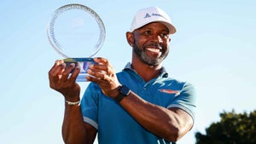
<svg viewBox="0 0 256 144">
<path fill-rule="evenodd" d="M 177 107 L 185 112 L 195 120 L 195 87 L 192 84 L 184 83 L 183 89 L 180 90 L 180 94 L 172 101 L 172 103 L 167 107 Z"/>
</svg>

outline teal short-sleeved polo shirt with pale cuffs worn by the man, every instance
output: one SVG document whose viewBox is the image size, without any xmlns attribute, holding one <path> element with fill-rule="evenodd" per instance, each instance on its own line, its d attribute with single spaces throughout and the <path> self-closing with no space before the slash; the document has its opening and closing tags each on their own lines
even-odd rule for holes
<svg viewBox="0 0 256 144">
<path fill-rule="evenodd" d="M 195 119 L 193 85 L 168 78 L 164 68 L 158 78 L 148 83 L 132 70 L 131 63 L 117 73 L 117 77 L 120 84 L 125 84 L 145 101 L 160 107 L 180 108 Z M 145 130 L 116 101 L 103 95 L 97 84 L 90 83 L 85 90 L 81 109 L 84 122 L 98 130 L 99 144 L 174 144 Z"/>
</svg>

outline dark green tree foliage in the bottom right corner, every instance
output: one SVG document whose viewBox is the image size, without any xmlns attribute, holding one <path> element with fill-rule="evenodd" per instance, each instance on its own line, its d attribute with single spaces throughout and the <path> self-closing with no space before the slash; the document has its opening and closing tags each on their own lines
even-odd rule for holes
<svg viewBox="0 0 256 144">
<path fill-rule="evenodd" d="M 256 110 L 223 112 L 220 118 L 206 129 L 206 135 L 195 134 L 196 144 L 256 144 Z"/>
</svg>

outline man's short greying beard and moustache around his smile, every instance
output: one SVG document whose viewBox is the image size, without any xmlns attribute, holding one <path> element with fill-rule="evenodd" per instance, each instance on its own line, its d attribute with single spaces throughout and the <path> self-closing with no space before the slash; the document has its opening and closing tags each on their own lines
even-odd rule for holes
<svg viewBox="0 0 256 144">
<path fill-rule="evenodd" d="M 151 46 L 158 46 L 160 47 L 160 51 L 161 51 L 161 55 L 160 57 L 157 57 L 157 58 L 152 58 L 150 56 L 147 55 L 147 52 L 146 52 L 146 48 L 145 46 L 143 46 L 142 49 L 139 49 L 137 47 L 137 44 L 133 43 L 132 45 L 132 48 L 133 48 L 133 52 L 137 55 L 137 57 L 143 61 L 143 63 L 147 64 L 148 66 L 158 66 L 160 65 L 160 63 L 166 59 L 166 56 L 168 55 L 169 53 L 169 49 L 167 49 L 166 47 L 163 47 L 161 46 L 160 44 L 154 44 L 154 43 L 151 43 L 149 44 Z"/>
</svg>

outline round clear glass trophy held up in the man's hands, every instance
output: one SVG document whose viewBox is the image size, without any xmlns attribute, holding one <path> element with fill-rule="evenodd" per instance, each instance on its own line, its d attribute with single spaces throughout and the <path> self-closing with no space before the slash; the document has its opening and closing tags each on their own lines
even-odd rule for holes
<svg viewBox="0 0 256 144">
<path fill-rule="evenodd" d="M 106 37 L 100 16 L 82 4 L 64 5 L 49 20 L 47 36 L 65 63 L 79 63 L 81 72 L 77 81 L 86 81 L 84 68 L 94 62 L 92 57 L 102 48 Z"/>
</svg>

